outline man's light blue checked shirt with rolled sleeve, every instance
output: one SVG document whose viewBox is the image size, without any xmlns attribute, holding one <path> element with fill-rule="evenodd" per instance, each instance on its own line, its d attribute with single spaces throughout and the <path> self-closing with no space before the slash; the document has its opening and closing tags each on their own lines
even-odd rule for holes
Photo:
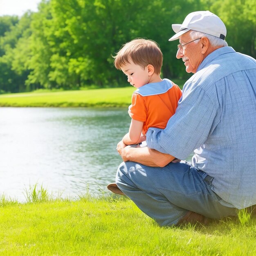
<svg viewBox="0 0 256 256">
<path fill-rule="evenodd" d="M 147 144 L 186 159 L 213 177 L 222 204 L 256 204 L 256 60 L 221 47 L 185 83 L 164 130 L 149 128 Z"/>
</svg>

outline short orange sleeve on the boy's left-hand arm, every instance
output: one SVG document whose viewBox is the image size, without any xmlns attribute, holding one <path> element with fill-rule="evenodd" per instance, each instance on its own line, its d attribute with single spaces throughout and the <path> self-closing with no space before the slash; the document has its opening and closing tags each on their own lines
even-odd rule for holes
<svg viewBox="0 0 256 256">
<path fill-rule="evenodd" d="M 145 122 L 147 117 L 146 106 L 143 97 L 138 93 L 132 94 L 132 104 L 129 106 L 128 113 L 134 120 Z"/>
</svg>

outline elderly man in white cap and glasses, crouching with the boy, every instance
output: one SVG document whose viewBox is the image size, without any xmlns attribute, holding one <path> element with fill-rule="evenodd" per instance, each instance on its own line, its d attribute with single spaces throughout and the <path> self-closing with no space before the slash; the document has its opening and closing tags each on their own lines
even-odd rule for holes
<svg viewBox="0 0 256 256">
<path fill-rule="evenodd" d="M 207 224 L 256 204 L 256 60 L 227 46 L 209 11 L 172 27 L 176 57 L 194 75 L 166 128 L 149 128 L 148 147 L 119 142 L 115 192 L 161 226 Z M 193 151 L 192 163 L 171 162 Z"/>
</svg>

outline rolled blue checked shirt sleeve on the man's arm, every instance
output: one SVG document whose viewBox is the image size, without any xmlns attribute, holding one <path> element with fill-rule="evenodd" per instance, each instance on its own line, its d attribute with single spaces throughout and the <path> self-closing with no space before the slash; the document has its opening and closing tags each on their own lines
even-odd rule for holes
<svg viewBox="0 0 256 256">
<path fill-rule="evenodd" d="M 162 153 L 186 159 L 191 152 L 206 141 L 219 122 L 218 107 L 208 95 L 197 87 L 184 97 L 182 95 L 175 115 L 165 129 L 149 128 L 147 145 Z"/>
</svg>

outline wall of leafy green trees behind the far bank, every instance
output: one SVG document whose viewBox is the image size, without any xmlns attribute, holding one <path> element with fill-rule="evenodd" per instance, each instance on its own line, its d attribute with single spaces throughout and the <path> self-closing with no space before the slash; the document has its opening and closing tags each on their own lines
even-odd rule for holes
<svg viewBox="0 0 256 256">
<path fill-rule="evenodd" d="M 255 1 L 42 0 L 37 13 L 0 17 L 0 92 L 118 87 L 126 79 L 112 56 L 138 37 L 159 44 L 162 77 L 187 79 L 171 24 L 206 9 L 225 22 L 230 46 L 256 57 Z"/>
</svg>

